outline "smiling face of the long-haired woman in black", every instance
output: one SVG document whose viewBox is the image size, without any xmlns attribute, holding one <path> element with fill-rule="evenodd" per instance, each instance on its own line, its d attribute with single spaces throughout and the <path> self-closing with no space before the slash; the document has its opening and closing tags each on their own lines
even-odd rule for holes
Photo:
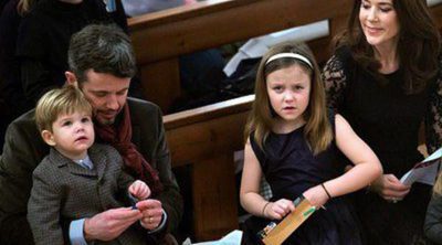
<svg viewBox="0 0 442 245">
<path fill-rule="evenodd" d="M 400 25 L 393 0 L 361 1 L 359 21 L 367 42 L 373 46 L 396 45 Z"/>
</svg>

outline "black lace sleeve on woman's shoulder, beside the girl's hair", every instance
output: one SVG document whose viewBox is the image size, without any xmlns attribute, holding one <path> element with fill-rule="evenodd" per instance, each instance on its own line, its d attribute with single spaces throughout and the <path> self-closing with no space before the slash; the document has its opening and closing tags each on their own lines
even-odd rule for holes
<svg viewBox="0 0 442 245">
<path fill-rule="evenodd" d="M 327 106 L 338 113 L 344 100 L 347 77 L 344 74 L 344 64 L 336 55 L 325 64 L 322 77 L 325 84 Z"/>
</svg>

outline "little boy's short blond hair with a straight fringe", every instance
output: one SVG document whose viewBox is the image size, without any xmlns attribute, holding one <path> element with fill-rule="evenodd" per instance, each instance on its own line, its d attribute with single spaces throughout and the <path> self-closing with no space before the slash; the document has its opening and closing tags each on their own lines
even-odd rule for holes
<svg viewBox="0 0 442 245">
<path fill-rule="evenodd" d="M 48 92 L 39 99 L 35 122 L 40 131 L 52 131 L 52 125 L 60 116 L 75 111 L 92 116 L 92 106 L 78 88 L 66 85 Z"/>
</svg>

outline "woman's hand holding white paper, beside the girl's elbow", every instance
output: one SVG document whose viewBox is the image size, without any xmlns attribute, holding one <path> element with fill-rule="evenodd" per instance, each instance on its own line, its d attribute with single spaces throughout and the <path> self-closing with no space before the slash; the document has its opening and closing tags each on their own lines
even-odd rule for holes
<svg viewBox="0 0 442 245">
<path fill-rule="evenodd" d="M 370 190 L 377 192 L 387 201 L 397 202 L 406 198 L 410 188 L 402 184 L 393 174 L 382 174 L 371 184 Z"/>
</svg>

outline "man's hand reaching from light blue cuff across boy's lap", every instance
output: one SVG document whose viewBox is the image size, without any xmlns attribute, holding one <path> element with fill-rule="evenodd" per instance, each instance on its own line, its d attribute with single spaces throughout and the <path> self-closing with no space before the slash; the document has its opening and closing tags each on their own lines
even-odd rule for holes
<svg viewBox="0 0 442 245">
<path fill-rule="evenodd" d="M 98 213 L 84 222 L 86 241 L 112 241 L 118 237 L 134 222 L 143 217 L 138 210 L 119 207 Z"/>
</svg>

